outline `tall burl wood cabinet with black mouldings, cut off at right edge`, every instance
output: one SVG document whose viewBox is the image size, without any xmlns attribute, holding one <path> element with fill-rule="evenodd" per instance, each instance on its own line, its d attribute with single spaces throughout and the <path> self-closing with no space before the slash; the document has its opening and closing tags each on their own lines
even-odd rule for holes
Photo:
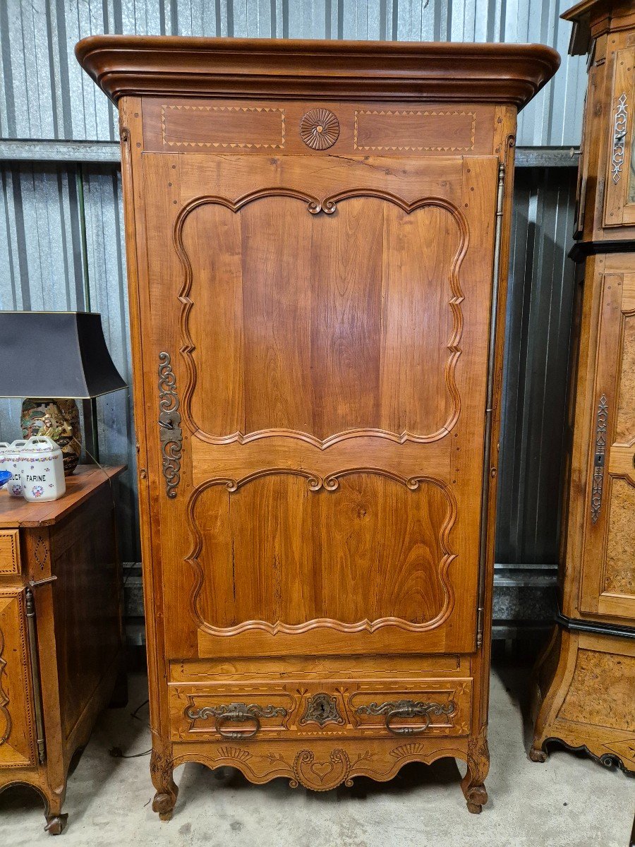
<svg viewBox="0 0 635 847">
<path fill-rule="evenodd" d="M 560 614 L 538 662 L 530 756 L 552 739 L 635 771 L 635 7 L 586 2 L 590 53 L 578 180 L 583 276 Z"/>
</svg>

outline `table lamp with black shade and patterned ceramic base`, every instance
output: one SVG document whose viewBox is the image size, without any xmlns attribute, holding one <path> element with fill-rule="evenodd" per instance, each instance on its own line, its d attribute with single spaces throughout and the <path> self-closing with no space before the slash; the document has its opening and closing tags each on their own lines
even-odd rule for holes
<svg viewBox="0 0 635 847">
<path fill-rule="evenodd" d="M 48 435 L 60 446 L 64 473 L 80 461 L 76 399 L 126 388 L 103 337 L 102 316 L 88 312 L 0 312 L 0 397 L 25 397 L 25 438 Z"/>
</svg>

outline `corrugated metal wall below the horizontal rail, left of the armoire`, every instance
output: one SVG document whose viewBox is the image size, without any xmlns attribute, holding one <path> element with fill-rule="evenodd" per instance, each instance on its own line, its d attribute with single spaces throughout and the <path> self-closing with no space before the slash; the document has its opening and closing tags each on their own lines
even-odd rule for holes
<svg viewBox="0 0 635 847">
<path fill-rule="evenodd" d="M 4 164 L 0 178 L 0 308 L 101 312 L 113 361 L 130 384 L 119 170 Z M 19 401 L 0 401 L 0 440 L 19 437 L 19 409 Z M 130 466 L 120 486 L 120 538 L 126 560 L 138 559 L 130 392 L 98 398 L 97 412 L 102 460 Z"/>
</svg>

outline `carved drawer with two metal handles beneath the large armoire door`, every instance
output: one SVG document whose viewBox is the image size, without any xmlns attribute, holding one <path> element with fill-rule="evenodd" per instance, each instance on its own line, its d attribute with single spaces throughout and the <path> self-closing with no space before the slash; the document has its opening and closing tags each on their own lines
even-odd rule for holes
<svg viewBox="0 0 635 847">
<path fill-rule="evenodd" d="M 174 741 L 467 735 L 472 679 L 169 684 Z"/>
</svg>

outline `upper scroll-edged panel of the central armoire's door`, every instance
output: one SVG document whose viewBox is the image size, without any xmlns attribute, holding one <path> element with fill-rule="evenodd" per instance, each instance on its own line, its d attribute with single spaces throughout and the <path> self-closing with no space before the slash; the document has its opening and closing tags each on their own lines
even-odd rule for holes
<svg viewBox="0 0 635 847">
<path fill-rule="evenodd" d="M 459 414 L 463 215 L 442 201 L 311 202 L 268 193 L 184 213 L 191 428 L 215 443 L 441 438 Z M 218 252 L 202 251 L 211 241 Z"/>
</svg>

